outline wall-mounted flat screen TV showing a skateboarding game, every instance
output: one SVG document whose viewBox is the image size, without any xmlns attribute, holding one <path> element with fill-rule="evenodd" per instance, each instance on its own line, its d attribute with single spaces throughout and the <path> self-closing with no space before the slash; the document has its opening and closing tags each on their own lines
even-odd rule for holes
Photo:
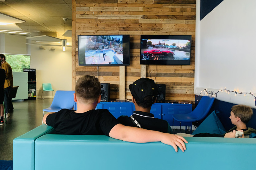
<svg viewBox="0 0 256 170">
<path fill-rule="evenodd" d="M 78 35 L 79 65 L 130 65 L 130 35 Z"/>
</svg>

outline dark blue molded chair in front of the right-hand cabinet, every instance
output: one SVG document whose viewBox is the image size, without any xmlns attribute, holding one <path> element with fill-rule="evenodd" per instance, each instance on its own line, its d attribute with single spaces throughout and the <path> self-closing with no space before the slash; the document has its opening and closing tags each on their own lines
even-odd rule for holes
<svg viewBox="0 0 256 170">
<path fill-rule="evenodd" d="M 204 119 L 207 116 L 211 106 L 214 102 L 213 97 L 203 96 L 196 106 L 196 108 L 187 114 L 173 114 L 173 120 L 177 120 L 180 122 L 180 133 L 181 133 L 181 122 L 196 122 Z M 192 125 L 191 125 L 192 128 Z M 192 129 L 190 130 L 190 134 L 192 133 Z"/>
</svg>

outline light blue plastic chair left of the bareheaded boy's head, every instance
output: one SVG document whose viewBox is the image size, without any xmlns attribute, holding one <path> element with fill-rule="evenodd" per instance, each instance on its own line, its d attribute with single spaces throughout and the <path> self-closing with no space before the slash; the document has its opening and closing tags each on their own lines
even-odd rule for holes
<svg viewBox="0 0 256 170">
<path fill-rule="evenodd" d="M 58 112 L 61 109 L 73 109 L 75 103 L 74 93 L 75 91 L 56 91 L 51 106 L 43 109 L 43 118 L 45 112 Z"/>
</svg>

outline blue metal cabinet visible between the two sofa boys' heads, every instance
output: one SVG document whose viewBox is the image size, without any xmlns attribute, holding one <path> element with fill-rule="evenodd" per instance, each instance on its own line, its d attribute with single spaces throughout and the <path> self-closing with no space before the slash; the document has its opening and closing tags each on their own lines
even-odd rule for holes
<svg viewBox="0 0 256 170">
<path fill-rule="evenodd" d="M 118 118 L 119 116 L 131 116 L 132 115 L 132 108 L 133 103 L 120 103 L 120 102 L 101 102 L 103 103 L 103 109 L 108 109 L 109 112 L 115 117 Z"/>
</svg>

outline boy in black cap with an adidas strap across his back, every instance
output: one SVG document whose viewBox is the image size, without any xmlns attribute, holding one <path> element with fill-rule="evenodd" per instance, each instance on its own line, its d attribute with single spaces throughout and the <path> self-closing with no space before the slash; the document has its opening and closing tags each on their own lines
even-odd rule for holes
<svg viewBox="0 0 256 170">
<path fill-rule="evenodd" d="M 119 123 L 164 133 L 173 133 L 166 120 L 154 118 L 150 113 L 152 104 L 157 101 L 157 85 L 152 79 L 140 78 L 129 85 L 132 102 L 135 105 L 133 115 L 118 117 Z"/>
</svg>

